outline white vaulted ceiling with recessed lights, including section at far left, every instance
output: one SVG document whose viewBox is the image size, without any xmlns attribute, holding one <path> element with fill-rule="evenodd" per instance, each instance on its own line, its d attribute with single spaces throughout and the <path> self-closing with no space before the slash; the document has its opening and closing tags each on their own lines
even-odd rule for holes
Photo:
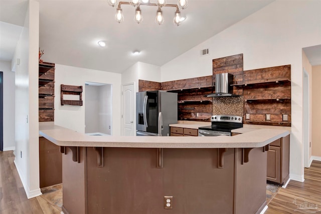
<svg viewBox="0 0 321 214">
<path fill-rule="evenodd" d="M 170 7 L 163 8 L 165 22 L 158 26 L 154 23 L 156 7 L 141 6 L 144 20 L 136 24 L 134 8 L 123 5 L 124 22 L 118 24 L 116 9 L 107 0 L 38 2 L 44 61 L 122 73 L 138 61 L 162 66 L 273 0 L 189 0 L 189 7 L 181 11 L 187 19 L 178 27 L 173 24 L 175 8 Z M 28 1 L 0 0 L 0 6 L 0 60 L 10 61 Z M 98 41 L 105 41 L 106 47 L 98 46 Z M 133 55 L 135 50 L 140 54 Z"/>
</svg>

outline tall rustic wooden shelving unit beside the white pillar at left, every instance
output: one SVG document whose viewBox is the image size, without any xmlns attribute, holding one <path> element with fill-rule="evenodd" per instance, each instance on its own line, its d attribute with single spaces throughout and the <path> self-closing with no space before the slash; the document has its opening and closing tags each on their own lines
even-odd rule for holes
<svg viewBox="0 0 321 214">
<path fill-rule="evenodd" d="M 54 121 L 55 64 L 39 63 L 39 122 Z"/>
</svg>

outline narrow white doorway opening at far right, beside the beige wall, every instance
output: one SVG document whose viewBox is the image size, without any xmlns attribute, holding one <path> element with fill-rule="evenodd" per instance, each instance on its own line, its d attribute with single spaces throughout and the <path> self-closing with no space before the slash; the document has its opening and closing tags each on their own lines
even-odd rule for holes
<svg viewBox="0 0 321 214">
<path fill-rule="evenodd" d="M 304 167 L 309 167 L 310 143 L 309 143 L 309 75 L 303 68 L 303 147 Z"/>
</svg>

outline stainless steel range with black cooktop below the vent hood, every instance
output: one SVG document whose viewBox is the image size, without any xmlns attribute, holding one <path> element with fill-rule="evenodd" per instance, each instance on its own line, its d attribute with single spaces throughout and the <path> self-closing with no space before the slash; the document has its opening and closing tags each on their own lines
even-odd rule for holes
<svg viewBox="0 0 321 214">
<path fill-rule="evenodd" d="M 231 136 L 233 129 L 243 127 L 243 118 L 235 115 L 213 115 L 211 126 L 199 127 L 199 136 Z"/>
</svg>

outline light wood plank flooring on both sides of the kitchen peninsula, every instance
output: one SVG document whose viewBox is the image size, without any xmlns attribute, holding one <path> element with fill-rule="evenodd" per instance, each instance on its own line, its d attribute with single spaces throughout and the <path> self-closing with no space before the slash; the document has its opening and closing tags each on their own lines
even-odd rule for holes
<svg viewBox="0 0 321 214">
<path fill-rule="evenodd" d="M 49 194 L 48 196 L 43 192 L 41 196 L 27 199 L 14 159 L 12 151 L 0 151 L 0 213 L 59 214 L 61 208 L 55 203 L 57 197 L 61 197 L 59 195 Z M 279 189 L 268 203 L 269 208 L 265 214 L 300 213 L 295 211 L 297 208 L 293 203 L 295 199 L 297 203 L 306 200 L 317 205 L 317 210 L 321 210 L 321 161 L 313 160 L 311 167 L 304 169 L 304 179 L 303 183 L 291 180 L 285 189 Z M 315 213 L 321 213 L 321 211 Z"/>
</svg>

